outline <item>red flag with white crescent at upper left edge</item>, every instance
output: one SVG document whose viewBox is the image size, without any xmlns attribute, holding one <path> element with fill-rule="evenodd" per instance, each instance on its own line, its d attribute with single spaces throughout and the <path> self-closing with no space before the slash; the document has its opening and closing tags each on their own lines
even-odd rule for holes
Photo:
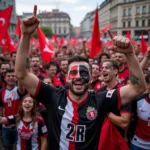
<svg viewBox="0 0 150 150">
<path fill-rule="evenodd" d="M 0 11 L 0 44 L 6 38 L 13 6 Z"/>
</svg>

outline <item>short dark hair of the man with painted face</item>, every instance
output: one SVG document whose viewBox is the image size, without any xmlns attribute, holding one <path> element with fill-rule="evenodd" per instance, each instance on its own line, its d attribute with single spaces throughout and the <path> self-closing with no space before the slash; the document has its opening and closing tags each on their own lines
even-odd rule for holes
<svg viewBox="0 0 150 150">
<path fill-rule="evenodd" d="M 79 56 L 79 55 L 76 55 L 76 56 L 71 57 L 71 58 L 68 60 L 68 65 L 70 65 L 72 62 L 86 62 L 86 63 L 89 64 L 88 58 L 83 57 L 83 56 Z"/>
</svg>

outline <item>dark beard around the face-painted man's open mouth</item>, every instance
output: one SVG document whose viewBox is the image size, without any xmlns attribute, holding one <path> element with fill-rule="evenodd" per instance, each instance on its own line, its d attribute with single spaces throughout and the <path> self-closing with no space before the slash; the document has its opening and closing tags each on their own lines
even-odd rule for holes
<svg viewBox="0 0 150 150">
<path fill-rule="evenodd" d="M 74 90 L 73 85 L 74 85 L 77 81 L 82 81 L 83 86 L 85 86 L 82 91 L 75 91 L 75 90 Z M 82 96 L 82 95 L 84 95 L 84 94 L 87 92 L 87 90 L 88 90 L 88 88 L 89 88 L 89 84 L 86 83 L 83 79 L 77 79 L 77 80 L 73 80 L 71 83 L 69 83 L 69 84 L 68 84 L 68 87 L 69 87 L 70 91 L 71 91 L 74 95 L 76 95 L 76 96 Z"/>
</svg>

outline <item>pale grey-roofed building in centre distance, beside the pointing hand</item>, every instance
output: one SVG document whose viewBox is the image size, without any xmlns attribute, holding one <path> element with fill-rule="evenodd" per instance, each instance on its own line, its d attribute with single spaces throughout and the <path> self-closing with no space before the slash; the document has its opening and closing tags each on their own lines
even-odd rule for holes
<svg viewBox="0 0 150 150">
<path fill-rule="evenodd" d="M 52 12 L 41 12 L 37 17 L 40 21 L 40 26 L 51 28 L 52 32 L 58 36 L 68 36 L 71 34 L 72 25 L 70 23 L 70 16 L 67 13 L 53 9 Z"/>
</svg>

